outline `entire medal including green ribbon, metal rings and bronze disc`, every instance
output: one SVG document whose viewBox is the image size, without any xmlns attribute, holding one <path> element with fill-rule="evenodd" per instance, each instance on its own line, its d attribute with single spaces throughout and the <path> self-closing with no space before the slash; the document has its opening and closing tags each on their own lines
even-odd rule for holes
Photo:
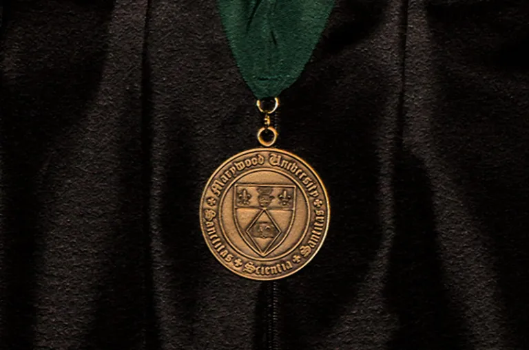
<svg viewBox="0 0 529 350">
<path fill-rule="evenodd" d="M 257 133 L 260 147 L 230 157 L 209 177 L 200 199 L 200 228 L 209 250 L 228 270 L 254 280 L 276 280 L 298 272 L 320 250 L 330 208 L 313 168 L 298 155 L 273 147 L 278 131 L 271 118 L 279 99 L 271 98 L 269 109 L 262 101 L 278 96 L 298 78 L 333 1 L 284 3 L 280 16 L 276 1 L 218 0 L 218 5 L 264 125 Z M 311 16 L 289 18 L 305 12 Z"/>
</svg>

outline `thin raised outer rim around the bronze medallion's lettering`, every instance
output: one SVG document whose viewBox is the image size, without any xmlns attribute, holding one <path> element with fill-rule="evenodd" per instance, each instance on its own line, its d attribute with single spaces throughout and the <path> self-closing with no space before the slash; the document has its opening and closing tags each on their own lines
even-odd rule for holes
<svg viewBox="0 0 529 350">
<path fill-rule="evenodd" d="M 322 239 L 320 241 L 320 244 L 315 248 L 314 253 L 311 256 L 309 256 L 307 261 L 305 261 L 304 264 L 300 268 L 293 269 L 293 271 L 289 271 L 286 274 L 282 274 L 280 276 L 267 277 L 267 278 L 258 278 L 258 277 L 254 277 L 254 276 L 251 276 L 249 274 L 243 274 L 242 272 L 238 272 L 236 270 L 231 269 L 229 267 L 228 263 L 226 263 L 223 259 L 220 259 L 219 256 L 217 256 L 216 252 L 214 252 L 214 250 L 211 248 L 211 246 L 209 245 L 209 241 L 207 240 L 208 237 L 206 236 L 205 231 L 203 229 L 203 219 L 204 219 L 204 217 L 203 217 L 203 204 L 204 204 L 205 197 L 206 197 L 206 194 L 207 194 L 207 189 L 209 188 L 209 184 L 211 184 L 211 181 L 214 180 L 215 175 L 218 173 L 218 169 L 223 168 L 229 162 L 232 162 L 236 158 L 238 158 L 238 157 L 240 157 L 242 155 L 245 155 L 247 153 L 267 152 L 267 151 L 277 151 L 279 153 L 284 153 L 285 155 L 288 155 L 289 157 L 292 157 L 295 160 L 298 160 L 298 162 L 302 162 L 302 164 L 304 166 L 307 166 L 307 168 L 309 168 L 309 170 L 313 173 L 314 177 L 318 180 L 318 183 L 320 184 L 320 186 L 322 188 L 322 191 L 324 193 L 325 205 L 326 205 L 326 208 L 327 208 L 327 212 L 326 212 L 326 218 L 327 219 L 326 219 L 325 229 L 324 229 L 324 233 L 322 234 Z M 219 203 L 219 205 L 220 205 L 220 203 Z M 270 147 L 270 148 L 258 147 L 256 149 L 247 149 L 246 151 L 242 151 L 242 152 L 236 153 L 235 155 L 232 155 L 227 160 L 222 162 L 222 164 L 220 164 L 219 166 L 217 166 L 215 168 L 213 173 L 211 173 L 211 176 L 209 176 L 209 179 L 207 179 L 207 182 L 206 182 L 206 184 L 204 186 L 203 193 L 200 196 L 199 217 L 200 217 L 200 231 L 202 232 L 202 237 L 203 237 L 203 239 L 204 239 L 204 241 L 205 241 L 205 243 L 207 245 L 207 248 L 209 249 L 209 252 L 211 252 L 211 254 L 213 254 L 213 256 L 215 256 L 216 261 L 218 261 L 218 263 L 220 263 L 220 265 L 225 267 L 226 270 L 229 270 L 231 273 L 234 273 L 234 274 L 236 274 L 236 275 L 238 275 L 240 277 L 247 278 L 247 279 L 252 280 L 252 281 L 276 281 L 276 280 L 279 280 L 279 279 L 282 279 L 282 278 L 286 278 L 288 276 L 292 276 L 293 274 L 296 274 L 300 270 L 303 270 L 304 267 L 307 267 L 307 265 L 309 265 L 309 263 L 312 261 L 312 259 L 314 259 L 314 256 L 316 256 L 318 254 L 318 252 L 320 252 L 320 249 L 322 248 L 323 243 L 325 243 L 325 239 L 327 237 L 327 232 L 329 231 L 329 225 L 331 223 L 331 204 L 329 203 L 329 193 L 327 193 L 327 189 L 326 189 L 326 187 L 325 187 L 320 175 L 304 159 L 302 159 L 298 155 L 295 155 L 294 153 L 291 153 L 289 151 L 285 151 L 284 149 L 278 149 L 278 148 L 275 148 L 275 147 Z M 309 220 L 309 222 L 310 222 L 310 220 Z M 219 223 L 219 227 L 220 227 L 220 223 Z"/>
</svg>

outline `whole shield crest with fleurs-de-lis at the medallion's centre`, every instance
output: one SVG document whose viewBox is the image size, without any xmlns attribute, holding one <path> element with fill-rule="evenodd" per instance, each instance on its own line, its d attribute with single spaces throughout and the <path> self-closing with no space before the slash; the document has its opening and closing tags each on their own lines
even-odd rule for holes
<svg viewBox="0 0 529 350">
<path fill-rule="evenodd" d="M 293 224 L 295 186 L 236 184 L 234 216 L 237 230 L 247 245 L 267 256 L 287 237 Z"/>
</svg>

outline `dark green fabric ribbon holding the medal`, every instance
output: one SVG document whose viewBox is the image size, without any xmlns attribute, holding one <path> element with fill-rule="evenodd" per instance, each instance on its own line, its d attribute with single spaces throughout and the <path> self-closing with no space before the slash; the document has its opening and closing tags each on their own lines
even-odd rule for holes
<svg viewBox="0 0 529 350">
<path fill-rule="evenodd" d="M 333 0 L 218 0 L 231 51 L 256 98 L 279 96 L 298 79 Z"/>
</svg>

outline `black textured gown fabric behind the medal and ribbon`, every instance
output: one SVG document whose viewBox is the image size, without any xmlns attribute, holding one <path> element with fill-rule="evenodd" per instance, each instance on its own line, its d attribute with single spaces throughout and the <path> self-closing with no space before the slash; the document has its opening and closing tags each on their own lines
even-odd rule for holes
<svg viewBox="0 0 529 350">
<path fill-rule="evenodd" d="M 331 227 L 274 283 L 198 225 L 260 126 L 216 2 L 2 8 L 0 349 L 529 349 L 527 1 L 337 1 L 279 120 Z"/>
</svg>

